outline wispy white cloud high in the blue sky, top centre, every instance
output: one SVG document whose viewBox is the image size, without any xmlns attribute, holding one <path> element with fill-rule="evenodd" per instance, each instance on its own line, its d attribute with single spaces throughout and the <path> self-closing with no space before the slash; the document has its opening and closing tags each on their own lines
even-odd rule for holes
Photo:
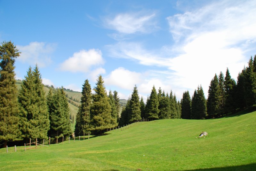
<svg viewBox="0 0 256 171">
<path fill-rule="evenodd" d="M 119 33 L 149 33 L 157 28 L 156 21 L 154 21 L 155 17 L 155 12 L 120 13 L 114 18 L 106 18 L 104 22 L 106 27 L 116 30 Z"/>
</svg>

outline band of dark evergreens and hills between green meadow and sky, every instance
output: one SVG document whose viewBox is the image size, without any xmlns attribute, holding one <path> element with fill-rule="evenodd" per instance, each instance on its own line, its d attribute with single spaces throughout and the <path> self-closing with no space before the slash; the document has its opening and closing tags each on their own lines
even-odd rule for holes
<svg viewBox="0 0 256 171">
<path fill-rule="evenodd" d="M 81 93 L 44 86 L 37 65 L 28 68 L 23 81 L 17 81 L 18 90 L 14 64 L 19 55 L 12 42 L 0 46 L 0 144 L 3 146 L 7 142 L 26 142 L 29 138 L 68 138 L 73 130 L 78 136 L 102 134 L 109 128 L 138 120 L 215 118 L 256 103 L 256 55 L 238 74 L 237 82 L 231 78 L 228 68 L 225 77 L 222 72 L 219 76 L 215 74 L 207 99 L 202 86 L 195 89 L 192 98 L 185 91 L 180 101 L 172 91 L 165 93 L 153 86 L 146 103 L 139 97 L 136 85 L 127 101 L 120 100 L 117 91 L 107 94 L 101 75 L 93 87 L 94 94 L 88 79 Z"/>
</svg>

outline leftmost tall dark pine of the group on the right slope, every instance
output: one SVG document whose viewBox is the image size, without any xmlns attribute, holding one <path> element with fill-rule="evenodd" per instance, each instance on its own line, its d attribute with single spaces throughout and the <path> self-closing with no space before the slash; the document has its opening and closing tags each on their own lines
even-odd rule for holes
<svg viewBox="0 0 256 171">
<path fill-rule="evenodd" d="M 217 74 L 213 77 L 209 90 L 208 90 L 208 101 L 207 101 L 207 113 L 210 117 L 214 117 L 220 113 L 221 105 L 221 90 L 219 85 L 219 79 Z"/>
</svg>

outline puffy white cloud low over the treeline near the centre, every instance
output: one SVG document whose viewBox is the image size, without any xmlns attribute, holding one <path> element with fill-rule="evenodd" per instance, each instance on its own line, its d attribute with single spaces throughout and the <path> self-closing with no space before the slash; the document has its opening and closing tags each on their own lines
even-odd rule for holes
<svg viewBox="0 0 256 171">
<path fill-rule="evenodd" d="M 142 75 L 140 73 L 119 67 L 105 78 L 105 83 L 107 85 L 116 85 L 123 89 L 133 89 L 135 84 L 139 84 L 141 82 L 141 76 Z"/>
</svg>

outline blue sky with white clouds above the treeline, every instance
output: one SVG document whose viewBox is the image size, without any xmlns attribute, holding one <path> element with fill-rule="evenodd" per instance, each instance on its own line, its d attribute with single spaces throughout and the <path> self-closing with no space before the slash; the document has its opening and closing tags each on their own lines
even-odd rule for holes
<svg viewBox="0 0 256 171">
<path fill-rule="evenodd" d="M 81 91 L 99 74 L 127 99 L 136 84 L 146 100 L 153 85 L 178 100 L 214 74 L 232 78 L 256 54 L 255 1 L 0 0 L 0 41 L 21 55 L 17 79 L 38 64 L 44 84 Z"/>
</svg>

